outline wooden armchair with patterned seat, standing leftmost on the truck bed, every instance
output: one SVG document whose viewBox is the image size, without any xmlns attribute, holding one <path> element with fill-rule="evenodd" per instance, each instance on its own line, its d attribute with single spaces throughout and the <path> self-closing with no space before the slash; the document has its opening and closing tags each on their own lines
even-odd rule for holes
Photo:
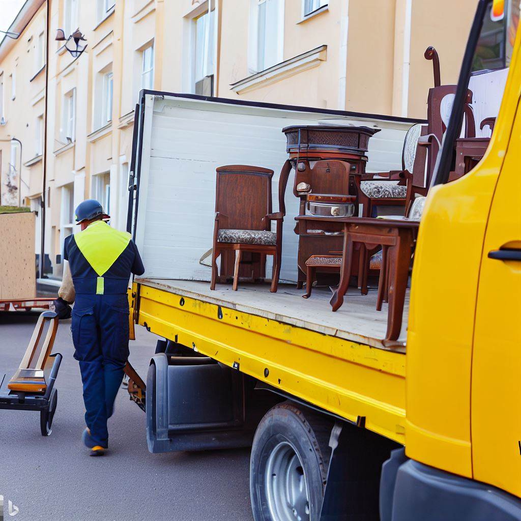
<svg viewBox="0 0 521 521">
<path fill-rule="evenodd" d="M 290 164 L 286 162 L 281 172 L 282 184 L 284 178 L 287 182 L 289 171 Z M 266 255 L 273 256 L 270 291 L 277 291 L 282 254 L 282 220 L 286 209 L 279 183 L 279 212 L 271 213 L 272 176 L 273 170 L 256 166 L 228 165 L 217 168 L 210 289 L 215 289 L 217 280 L 217 257 L 225 252 L 234 252 L 233 290 L 236 291 L 242 254 L 247 252 L 258 254 L 261 266 L 265 266 Z M 271 231 L 271 221 L 277 223 L 276 232 Z M 252 261 L 247 262 L 251 265 Z M 224 266 L 221 256 L 221 273 Z"/>
</svg>

